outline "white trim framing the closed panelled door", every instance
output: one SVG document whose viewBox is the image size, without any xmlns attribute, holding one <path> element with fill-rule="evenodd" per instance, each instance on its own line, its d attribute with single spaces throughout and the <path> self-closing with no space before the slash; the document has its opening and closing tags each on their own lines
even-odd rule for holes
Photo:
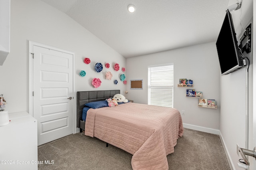
<svg viewBox="0 0 256 170">
<path fill-rule="evenodd" d="M 28 41 L 29 45 L 29 49 L 28 49 L 28 113 L 30 116 L 34 117 L 34 111 L 33 111 L 33 106 L 34 106 L 34 101 L 33 101 L 33 90 L 34 90 L 34 87 L 33 87 L 33 82 L 34 82 L 34 79 L 33 79 L 33 54 L 34 54 L 34 49 L 33 49 L 33 46 L 38 46 L 38 47 L 43 47 L 43 48 L 48 48 L 48 49 L 52 49 L 52 50 L 55 50 L 55 51 L 60 51 L 60 52 L 64 52 L 64 53 L 68 53 L 68 54 L 71 54 L 73 56 L 73 96 L 74 96 L 74 99 L 73 99 L 73 134 L 76 133 L 76 107 L 75 107 L 75 103 L 76 103 L 76 86 L 75 86 L 75 82 L 76 82 L 76 78 L 75 78 L 75 53 L 72 52 L 72 51 L 67 51 L 65 49 L 60 49 L 60 48 L 57 48 L 57 47 L 53 47 L 53 46 L 50 46 L 50 45 L 45 45 L 45 44 L 42 44 L 42 43 L 38 43 L 38 42 L 33 42 L 33 41 Z"/>
</svg>

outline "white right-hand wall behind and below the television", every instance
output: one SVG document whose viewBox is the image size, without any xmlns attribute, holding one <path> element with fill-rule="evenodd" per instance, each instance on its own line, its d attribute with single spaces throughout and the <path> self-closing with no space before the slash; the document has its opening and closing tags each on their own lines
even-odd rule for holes
<svg viewBox="0 0 256 170">
<path fill-rule="evenodd" d="M 229 5 L 233 2 L 230 0 Z M 235 2 L 236 3 L 236 2 Z M 249 23 L 252 23 L 252 0 L 242 2 L 240 10 L 230 12 L 232 15 L 236 37 L 240 38 L 241 33 Z M 253 34 L 253 32 L 252 32 Z M 253 39 L 252 39 L 253 40 Z M 240 40 L 238 40 L 240 43 Z M 253 49 L 252 49 L 253 50 Z M 250 136 L 252 136 L 252 53 L 244 53 L 244 57 L 249 57 L 249 119 Z M 221 76 L 220 80 L 220 133 L 225 144 L 228 156 L 230 157 L 232 168 L 238 167 L 238 160 L 241 156 L 236 153 L 236 144 L 245 148 L 246 143 L 246 68 L 240 69 L 228 75 Z M 251 137 L 250 137 L 251 138 Z M 250 140 L 252 143 L 252 140 Z M 249 148 L 253 149 L 253 148 Z M 253 159 L 250 158 L 250 163 Z M 250 169 L 253 169 L 253 165 Z"/>
</svg>

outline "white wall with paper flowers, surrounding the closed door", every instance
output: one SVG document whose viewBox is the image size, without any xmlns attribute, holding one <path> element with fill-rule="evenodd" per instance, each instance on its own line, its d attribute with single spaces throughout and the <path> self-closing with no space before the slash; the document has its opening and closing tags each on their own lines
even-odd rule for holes
<svg viewBox="0 0 256 170">
<path fill-rule="evenodd" d="M 104 76 L 109 70 L 113 74 L 112 79 L 120 80 L 122 71 L 104 67 L 102 72 L 96 73 L 94 65 L 108 62 L 126 67 L 125 58 L 66 14 L 40 0 L 11 0 L 10 20 L 10 54 L 0 66 L 0 93 L 8 102 L 6 110 L 9 113 L 28 112 L 29 40 L 75 53 L 76 91 L 120 89 L 124 94 L 123 83 L 114 85 Z M 83 63 L 84 57 L 90 58 L 89 65 Z M 79 75 L 81 70 L 86 71 L 85 77 Z M 94 77 L 102 80 L 101 87 L 97 89 L 91 85 Z"/>
</svg>

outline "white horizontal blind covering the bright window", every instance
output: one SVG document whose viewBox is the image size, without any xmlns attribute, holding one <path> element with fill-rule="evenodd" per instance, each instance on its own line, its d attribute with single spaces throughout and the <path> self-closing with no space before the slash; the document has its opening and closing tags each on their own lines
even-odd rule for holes
<svg viewBox="0 0 256 170">
<path fill-rule="evenodd" d="M 173 64 L 148 67 L 148 105 L 173 108 Z"/>
</svg>

